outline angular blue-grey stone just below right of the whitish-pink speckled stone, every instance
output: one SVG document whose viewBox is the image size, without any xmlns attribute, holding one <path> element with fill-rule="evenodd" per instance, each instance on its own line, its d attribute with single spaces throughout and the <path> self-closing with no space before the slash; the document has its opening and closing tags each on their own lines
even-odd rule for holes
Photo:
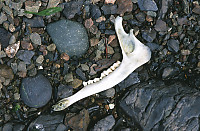
<svg viewBox="0 0 200 131">
<path fill-rule="evenodd" d="M 29 50 L 19 50 L 17 52 L 17 58 L 20 60 L 23 60 L 25 64 L 31 64 L 31 58 L 34 56 L 35 52 L 34 51 L 29 51 Z"/>
</svg>

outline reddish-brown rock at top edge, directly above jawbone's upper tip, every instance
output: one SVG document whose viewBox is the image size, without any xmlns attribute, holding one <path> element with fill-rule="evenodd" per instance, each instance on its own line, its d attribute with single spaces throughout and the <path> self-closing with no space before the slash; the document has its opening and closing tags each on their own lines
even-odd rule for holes
<svg viewBox="0 0 200 131">
<path fill-rule="evenodd" d="M 131 12 L 133 10 L 133 3 L 131 0 L 117 0 L 117 14 L 123 15 L 125 12 Z"/>
</svg>

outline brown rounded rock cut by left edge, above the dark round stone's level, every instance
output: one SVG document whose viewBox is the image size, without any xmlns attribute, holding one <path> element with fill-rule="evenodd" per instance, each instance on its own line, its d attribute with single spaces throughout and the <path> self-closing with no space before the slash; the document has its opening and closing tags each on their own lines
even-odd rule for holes
<svg viewBox="0 0 200 131">
<path fill-rule="evenodd" d="M 12 80 L 14 78 L 14 74 L 11 67 L 7 65 L 0 65 L 0 77 Z"/>
</svg>

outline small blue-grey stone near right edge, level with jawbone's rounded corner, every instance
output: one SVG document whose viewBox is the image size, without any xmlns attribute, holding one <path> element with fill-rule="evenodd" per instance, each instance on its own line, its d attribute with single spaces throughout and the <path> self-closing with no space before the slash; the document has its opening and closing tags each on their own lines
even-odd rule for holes
<svg viewBox="0 0 200 131">
<path fill-rule="evenodd" d="M 179 44 L 180 42 L 178 40 L 170 39 L 167 42 L 168 50 L 172 52 L 178 52 L 179 51 Z"/>
</svg>

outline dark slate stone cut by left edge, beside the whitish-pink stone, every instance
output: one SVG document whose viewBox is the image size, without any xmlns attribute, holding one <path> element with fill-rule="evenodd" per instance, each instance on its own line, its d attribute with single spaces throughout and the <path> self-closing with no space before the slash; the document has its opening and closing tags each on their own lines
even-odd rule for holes
<svg viewBox="0 0 200 131">
<path fill-rule="evenodd" d="M 0 28 L 0 43 L 1 43 L 1 48 L 6 48 L 9 45 L 9 40 L 12 34 L 5 30 L 4 28 Z"/>
</svg>

